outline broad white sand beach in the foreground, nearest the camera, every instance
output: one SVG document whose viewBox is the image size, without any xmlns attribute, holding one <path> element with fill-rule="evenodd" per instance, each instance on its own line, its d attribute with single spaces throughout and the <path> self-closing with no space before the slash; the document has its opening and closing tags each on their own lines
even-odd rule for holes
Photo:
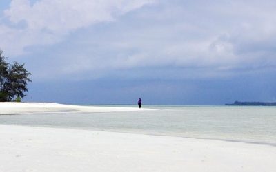
<svg viewBox="0 0 276 172">
<path fill-rule="evenodd" d="M 0 125 L 0 171 L 275 172 L 276 147 Z"/>
</svg>

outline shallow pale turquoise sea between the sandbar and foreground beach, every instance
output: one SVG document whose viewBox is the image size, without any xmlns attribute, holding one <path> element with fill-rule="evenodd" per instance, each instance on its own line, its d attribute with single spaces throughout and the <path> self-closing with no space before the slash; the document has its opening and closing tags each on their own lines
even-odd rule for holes
<svg viewBox="0 0 276 172">
<path fill-rule="evenodd" d="M 144 107 L 156 110 L 1 115 L 0 124 L 208 138 L 276 146 L 276 107 Z"/>
</svg>

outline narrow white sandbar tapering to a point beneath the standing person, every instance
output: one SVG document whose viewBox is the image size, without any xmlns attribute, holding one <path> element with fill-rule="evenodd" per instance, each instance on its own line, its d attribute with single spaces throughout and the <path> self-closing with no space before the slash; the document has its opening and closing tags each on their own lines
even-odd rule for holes
<svg viewBox="0 0 276 172">
<path fill-rule="evenodd" d="M 146 111 L 138 107 L 91 107 L 78 105 L 63 105 L 58 103 L 0 103 L 0 114 L 26 114 L 33 112 L 111 112 L 111 111 Z"/>
</svg>

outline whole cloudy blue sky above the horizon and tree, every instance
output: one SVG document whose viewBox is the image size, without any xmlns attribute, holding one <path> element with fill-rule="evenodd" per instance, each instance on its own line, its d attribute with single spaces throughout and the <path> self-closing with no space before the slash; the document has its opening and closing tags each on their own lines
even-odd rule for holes
<svg viewBox="0 0 276 172">
<path fill-rule="evenodd" d="M 1 0 L 0 49 L 23 101 L 276 101 L 276 1 Z"/>
</svg>

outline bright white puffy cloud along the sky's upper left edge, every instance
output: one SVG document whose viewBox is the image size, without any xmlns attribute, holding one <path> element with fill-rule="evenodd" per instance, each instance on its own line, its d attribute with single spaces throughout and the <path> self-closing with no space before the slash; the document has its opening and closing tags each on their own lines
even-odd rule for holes
<svg viewBox="0 0 276 172">
<path fill-rule="evenodd" d="M 28 0 L 13 0 L 5 14 L 13 23 L 26 21 L 28 29 L 46 29 L 62 34 L 93 23 L 112 21 L 118 15 L 152 2 L 152 0 L 42 0 L 30 6 Z"/>
</svg>

